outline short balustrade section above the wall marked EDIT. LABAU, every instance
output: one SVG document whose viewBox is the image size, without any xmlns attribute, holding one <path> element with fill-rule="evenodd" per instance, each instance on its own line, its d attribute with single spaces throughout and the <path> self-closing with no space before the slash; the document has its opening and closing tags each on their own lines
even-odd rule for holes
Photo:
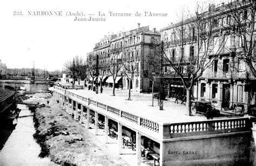
<svg viewBox="0 0 256 166">
<path fill-rule="evenodd" d="M 190 135 L 246 131 L 250 128 L 250 121 L 248 118 L 219 119 L 197 122 L 182 122 L 170 124 L 168 126 L 170 127 L 170 138 L 177 138 Z"/>
</svg>

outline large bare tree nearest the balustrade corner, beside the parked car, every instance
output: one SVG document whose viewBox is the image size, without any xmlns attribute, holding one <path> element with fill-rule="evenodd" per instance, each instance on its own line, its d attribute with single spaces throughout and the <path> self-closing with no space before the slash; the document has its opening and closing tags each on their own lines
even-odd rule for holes
<svg viewBox="0 0 256 166">
<path fill-rule="evenodd" d="M 189 18 L 186 15 L 190 15 Z M 225 42 L 223 35 L 214 26 L 213 15 L 214 11 L 206 11 L 203 5 L 197 6 L 195 14 L 183 11 L 171 41 L 162 42 L 161 46 L 164 49 L 164 61 L 170 64 L 186 89 L 186 108 L 190 116 L 192 88 L 203 71 L 218 58 Z M 185 55 L 184 47 L 190 48 L 188 56 Z"/>
</svg>

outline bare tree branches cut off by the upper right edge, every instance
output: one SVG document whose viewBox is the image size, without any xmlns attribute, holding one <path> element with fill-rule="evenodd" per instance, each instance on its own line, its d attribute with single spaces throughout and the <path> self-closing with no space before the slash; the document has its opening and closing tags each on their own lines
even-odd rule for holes
<svg viewBox="0 0 256 166">
<path fill-rule="evenodd" d="M 232 33 L 233 50 L 231 51 L 238 59 L 246 62 L 254 77 L 256 77 L 255 57 L 253 56 L 255 9 L 255 0 L 231 2 L 225 5 L 224 9 L 228 10 L 230 15 L 226 25 L 231 28 Z"/>
</svg>

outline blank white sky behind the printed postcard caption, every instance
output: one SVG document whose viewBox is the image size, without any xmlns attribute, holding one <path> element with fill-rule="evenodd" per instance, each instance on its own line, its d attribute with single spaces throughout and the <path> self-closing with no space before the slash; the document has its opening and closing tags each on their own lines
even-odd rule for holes
<svg viewBox="0 0 256 166">
<path fill-rule="evenodd" d="M 104 35 L 135 29 L 137 23 L 160 30 L 176 23 L 181 9 L 195 5 L 196 0 L 1 1 L 0 60 L 8 68 L 31 68 L 35 63 L 35 68 L 62 70 L 63 64 L 76 55 L 85 59 Z M 61 11 L 62 16 L 30 16 L 34 11 Z M 84 16 L 78 18 L 89 19 L 92 15 L 105 21 L 75 21 L 76 16 L 66 16 L 70 12 L 83 12 Z M 105 16 L 98 16 L 99 12 Z M 131 16 L 110 16 L 110 12 Z M 141 16 L 135 16 L 136 12 Z M 145 12 L 167 16 L 145 16 Z"/>
</svg>

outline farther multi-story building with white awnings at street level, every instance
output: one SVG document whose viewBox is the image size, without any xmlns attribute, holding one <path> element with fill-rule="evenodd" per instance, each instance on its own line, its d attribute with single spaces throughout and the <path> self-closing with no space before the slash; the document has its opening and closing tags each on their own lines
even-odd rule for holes
<svg viewBox="0 0 256 166">
<path fill-rule="evenodd" d="M 95 66 L 98 60 L 99 77 L 103 72 L 109 76 L 103 79 L 107 86 L 113 86 L 111 70 L 119 64 L 114 86 L 128 89 L 131 79 L 133 92 L 148 91 L 151 83 L 145 73 L 150 70 L 149 62 L 156 57 L 159 44 L 160 33 L 155 28 L 151 31 L 149 26 L 140 27 L 138 24 L 134 30 L 105 36 L 96 44 L 93 56 L 87 57 L 87 64 Z"/>
</svg>

